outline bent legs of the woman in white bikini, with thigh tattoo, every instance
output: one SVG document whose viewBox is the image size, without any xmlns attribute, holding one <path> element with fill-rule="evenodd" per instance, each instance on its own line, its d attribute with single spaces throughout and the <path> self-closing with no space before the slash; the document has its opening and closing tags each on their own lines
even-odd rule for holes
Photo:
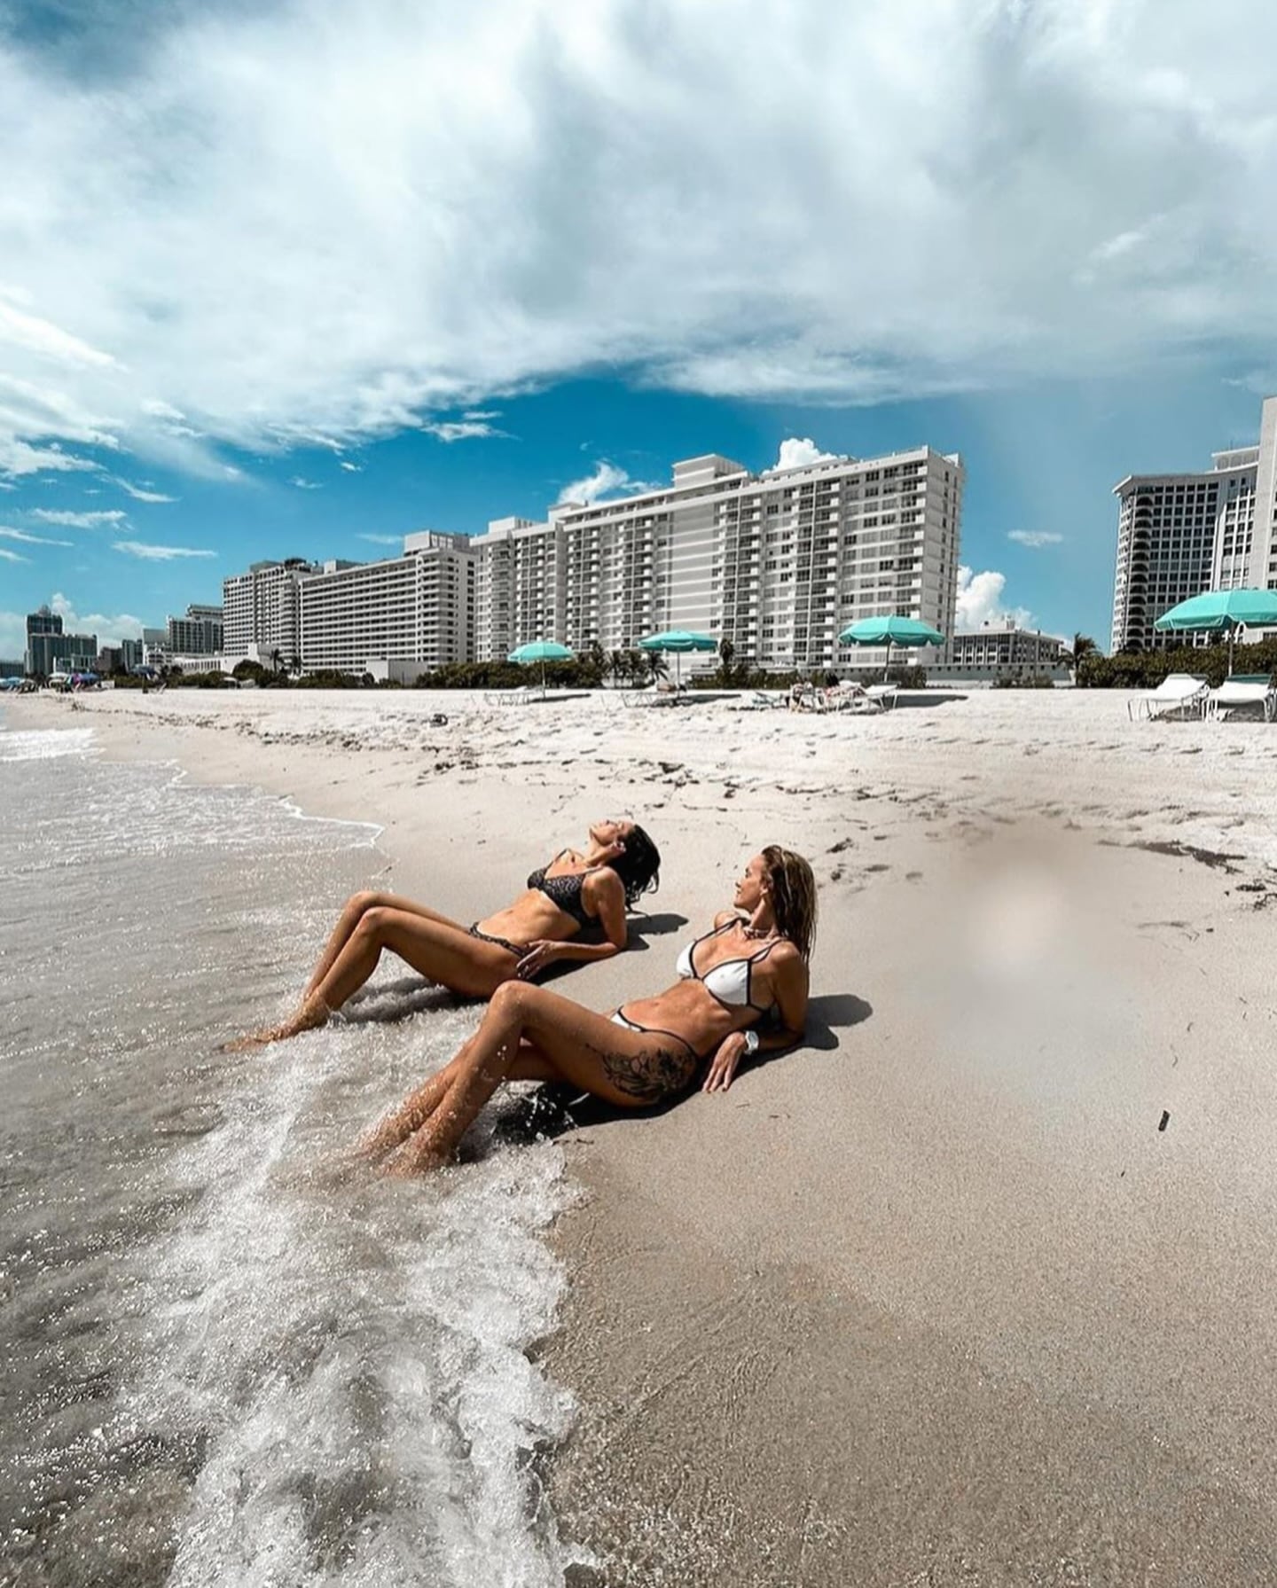
<svg viewBox="0 0 1277 1588">
<path fill-rule="evenodd" d="M 570 1081 L 621 1108 L 642 1108 L 694 1070 L 694 1054 L 677 1039 L 626 1031 L 546 988 L 507 981 L 456 1059 L 373 1140 L 380 1151 L 407 1140 L 402 1167 L 427 1169 L 451 1158 L 503 1080 Z"/>
</svg>

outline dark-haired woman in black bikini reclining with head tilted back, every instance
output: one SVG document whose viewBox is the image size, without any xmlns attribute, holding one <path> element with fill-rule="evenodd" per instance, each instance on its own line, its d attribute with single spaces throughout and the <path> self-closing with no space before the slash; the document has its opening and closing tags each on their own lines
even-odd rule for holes
<svg viewBox="0 0 1277 1588">
<path fill-rule="evenodd" d="M 610 959 L 626 946 L 626 910 L 659 883 L 661 854 L 632 821 L 599 821 L 584 853 L 562 850 L 532 872 L 527 889 L 486 921 L 462 926 L 399 894 L 359 892 L 324 948 L 297 1013 L 229 1043 L 260 1046 L 322 1026 L 376 969 L 389 948 L 422 977 L 464 997 L 488 997 L 513 977 L 534 977 L 556 959 Z M 599 943 L 578 943 L 597 929 Z"/>
</svg>

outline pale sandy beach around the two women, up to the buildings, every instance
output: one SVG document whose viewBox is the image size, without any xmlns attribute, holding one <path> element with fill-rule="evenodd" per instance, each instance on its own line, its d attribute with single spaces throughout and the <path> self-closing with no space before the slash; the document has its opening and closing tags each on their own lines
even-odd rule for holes
<svg viewBox="0 0 1277 1588">
<path fill-rule="evenodd" d="M 573 1588 L 1277 1580 L 1277 732 L 1090 691 L 734 705 L 6 715 L 373 824 L 383 885 L 467 921 L 632 815 L 662 851 L 637 951 L 554 978 L 597 1008 L 667 985 L 764 843 L 810 858 L 808 1043 L 556 1139 L 530 1353 L 575 1405 L 537 1456 Z"/>
</svg>

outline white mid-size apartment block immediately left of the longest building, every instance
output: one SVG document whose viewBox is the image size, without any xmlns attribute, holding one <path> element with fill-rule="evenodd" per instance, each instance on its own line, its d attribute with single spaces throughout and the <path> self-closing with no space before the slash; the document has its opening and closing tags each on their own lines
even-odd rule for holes
<svg viewBox="0 0 1277 1588">
<path fill-rule="evenodd" d="M 402 557 L 326 564 L 297 584 L 300 656 L 308 670 L 403 676 L 473 657 L 475 573 L 469 535 L 407 535 Z"/>
</svg>

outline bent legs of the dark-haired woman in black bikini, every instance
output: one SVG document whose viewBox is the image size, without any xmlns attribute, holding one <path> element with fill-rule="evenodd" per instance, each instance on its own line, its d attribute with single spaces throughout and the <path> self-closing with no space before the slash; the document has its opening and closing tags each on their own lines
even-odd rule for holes
<svg viewBox="0 0 1277 1588">
<path fill-rule="evenodd" d="M 302 1000 L 302 1007 L 281 1026 L 243 1037 L 230 1051 L 281 1042 L 322 1026 L 334 1010 L 356 992 L 376 969 L 381 951 L 389 948 L 422 977 L 464 997 L 488 997 L 515 975 L 519 956 L 499 943 L 472 937 L 442 916 L 372 905 L 359 916 L 324 977 Z"/>
</svg>

